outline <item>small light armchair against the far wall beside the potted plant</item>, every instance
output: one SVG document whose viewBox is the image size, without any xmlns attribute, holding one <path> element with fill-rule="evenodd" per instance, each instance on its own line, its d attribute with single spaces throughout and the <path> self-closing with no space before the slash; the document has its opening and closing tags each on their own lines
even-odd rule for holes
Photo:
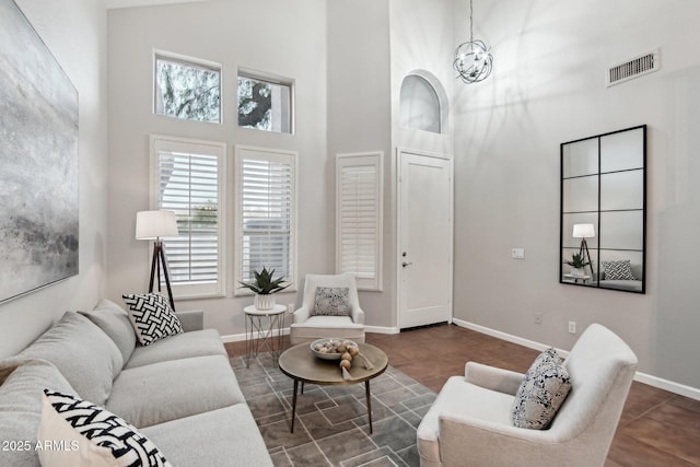
<svg viewBox="0 0 700 467">
<path fill-rule="evenodd" d="M 345 316 L 315 314 L 317 289 L 348 289 L 347 312 Z M 290 325 L 290 342 L 292 345 L 339 337 L 364 342 L 364 312 L 360 307 L 355 279 L 348 275 L 306 275 L 302 305 L 293 314 Z"/>
</svg>

